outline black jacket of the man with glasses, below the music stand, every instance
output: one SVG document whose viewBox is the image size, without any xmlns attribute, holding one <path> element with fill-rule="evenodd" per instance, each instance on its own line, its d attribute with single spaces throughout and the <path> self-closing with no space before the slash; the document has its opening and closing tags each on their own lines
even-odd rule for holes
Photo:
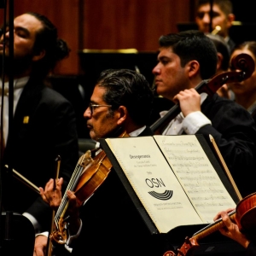
<svg viewBox="0 0 256 256">
<path fill-rule="evenodd" d="M 139 136 L 152 135 L 147 127 Z M 72 255 L 162 256 L 166 251 L 160 236 L 150 234 L 114 170 L 81 207 L 80 218 L 83 227 Z"/>
</svg>

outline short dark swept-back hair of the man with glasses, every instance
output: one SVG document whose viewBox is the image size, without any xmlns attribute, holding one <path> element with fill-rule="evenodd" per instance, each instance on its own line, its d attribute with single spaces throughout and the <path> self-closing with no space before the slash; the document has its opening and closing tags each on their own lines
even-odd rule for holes
<svg viewBox="0 0 256 256">
<path fill-rule="evenodd" d="M 97 85 L 106 89 L 103 99 L 113 110 L 125 106 L 134 123 L 146 125 L 154 90 L 143 74 L 130 69 L 107 69 L 100 74 Z"/>
</svg>

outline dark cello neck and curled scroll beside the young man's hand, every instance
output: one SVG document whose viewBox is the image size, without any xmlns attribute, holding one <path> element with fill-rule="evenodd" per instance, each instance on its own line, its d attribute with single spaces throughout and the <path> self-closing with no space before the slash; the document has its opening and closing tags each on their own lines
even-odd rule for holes
<svg viewBox="0 0 256 256">
<path fill-rule="evenodd" d="M 198 93 L 205 92 L 208 96 L 213 94 L 224 84 L 248 79 L 254 71 L 255 63 L 253 58 L 247 54 L 236 55 L 231 60 L 232 71 L 218 73 L 212 79 L 202 80 L 195 87 Z M 156 120 L 150 129 L 154 134 L 160 135 L 166 126 L 181 112 L 179 104 L 172 107 L 162 118 Z"/>
</svg>

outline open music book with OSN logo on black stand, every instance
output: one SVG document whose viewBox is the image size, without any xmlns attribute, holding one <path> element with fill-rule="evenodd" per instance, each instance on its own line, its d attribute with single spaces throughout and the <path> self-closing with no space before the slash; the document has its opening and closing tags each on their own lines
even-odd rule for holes
<svg viewBox="0 0 256 256">
<path fill-rule="evenodd" d="M 210 224 L 238 198 L 201 135 L 100 141 L 137 210 L 154 234 Z"/>
</svg>

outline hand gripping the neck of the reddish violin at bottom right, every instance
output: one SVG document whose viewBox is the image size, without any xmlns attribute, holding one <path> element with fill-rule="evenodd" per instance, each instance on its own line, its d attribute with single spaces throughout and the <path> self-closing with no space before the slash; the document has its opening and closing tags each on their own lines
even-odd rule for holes
<svg viewBox="0 0 256 256">
<path fill-rule="evenodd" d="M 247 240 L 247 237 L 240 232 L 237 224 L 231 221 L 230 216 L 228 215 L 228 212 L 230 211 L 231 209 L 228 209 L 223 212 L 218 212 L 218 214 L 213 218 L 213 220 L 222 218 L 224 223 L 224 228 L 219 229 L 220 233 L 224 236 L 228 236 L 231 239 L 239 242 L 242 247 L 247 248 L 250 241 Z"/>
</svg>

